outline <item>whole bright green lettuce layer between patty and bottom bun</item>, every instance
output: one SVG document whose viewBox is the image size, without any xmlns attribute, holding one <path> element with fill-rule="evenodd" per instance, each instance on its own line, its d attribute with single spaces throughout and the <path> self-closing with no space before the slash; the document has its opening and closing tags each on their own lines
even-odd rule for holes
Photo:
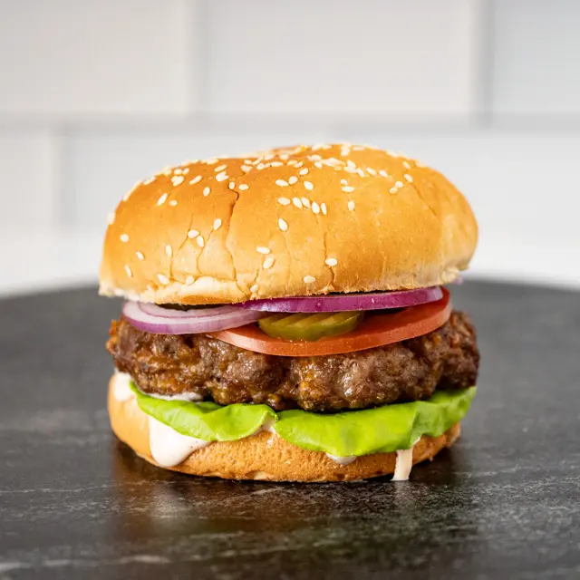
<svg viewBox="0 0 580 580">
<path fill-rule="evenodd" d="M 322 414 L 309 411 L 275 413 L 267 405 L 164 401 L 131 386 L 141 411 L 182 435 L 207 441 L 230 441 L 252 435 L 267 422 L 276 433 L 303 449 L 339 457 L 410 449 L 421 435 L 439 437 L 463 419 L 476 387 L 436 391 L 426 401 L 384 405 L 363 411 Z"/>
</svg>

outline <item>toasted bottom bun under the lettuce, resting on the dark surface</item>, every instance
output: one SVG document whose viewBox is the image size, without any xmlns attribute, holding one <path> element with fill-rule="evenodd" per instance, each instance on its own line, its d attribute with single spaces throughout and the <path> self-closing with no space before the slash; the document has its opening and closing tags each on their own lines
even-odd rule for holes
<svg viewBox="0 0 580 580">
<path fill-rule="evenodd" d="M 160 465 L 151 457 L 149 417 L 140 410 L 135 397 L 118 401 L 109 387 L 109 415 L 115 435 L 141 458 Z M 441 449 L 459 438 L 459 423 L 440 437 L 424 435 L 413 448 L 413 465 L 433 459 Z M 214 442 L 194 451 L 171 469 L 190 475 L 225 479 L 266 481 L 348 481 L 376 478 L 394 472 L 396 453 L 375 453 L 339 465 L 322 451 L 309 451 L 288 443 L 275 433 L 260 431 L 236 441 Z"/>
</svg>

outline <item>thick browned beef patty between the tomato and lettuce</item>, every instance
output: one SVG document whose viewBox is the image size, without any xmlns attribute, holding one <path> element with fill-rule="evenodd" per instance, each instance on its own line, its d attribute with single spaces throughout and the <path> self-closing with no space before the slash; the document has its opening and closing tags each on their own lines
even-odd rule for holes
<svg viewBox="0 0 580 580">
<path fill-rule="evenodd" d="M 435 389 L 475 384 L 479 363 L 473 325 L 455 311 L 429 334 L 357 353 L 254 353 L 203 334 L 144 333 L 122 319 L 111 324 L 107 350 L 141 391 L 187 392 L 223 405 L 266 403 L 275 411 L 340 411 L 426 399 Z"/>
</svg>

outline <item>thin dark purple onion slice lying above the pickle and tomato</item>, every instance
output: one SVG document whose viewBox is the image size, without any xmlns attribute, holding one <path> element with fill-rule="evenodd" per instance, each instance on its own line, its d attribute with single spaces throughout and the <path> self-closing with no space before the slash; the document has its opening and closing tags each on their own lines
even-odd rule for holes
<svg viewBox="0 0 580 580">
<path fill-rule="evenodd" d="M 382 310 L 405 308 L 440 300 L 440 286 L 403 290 L 401 292 L 371 292 L 368 294 L 341 294 L 325 296 L 298 296 L 249 300 L 236 304 L 242 308 L 264 312 L 344 312 L 346 310 Z"/>
</svg>

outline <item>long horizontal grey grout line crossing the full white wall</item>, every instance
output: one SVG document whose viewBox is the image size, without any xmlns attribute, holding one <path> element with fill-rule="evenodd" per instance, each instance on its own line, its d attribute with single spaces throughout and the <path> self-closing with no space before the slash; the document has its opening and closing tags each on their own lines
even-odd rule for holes
<svg viewBox="0 0 580 580">
<path fill-rule="evenodd" d="M 580 114 L 492 114 L 488 123 L 473 122 L 471 115 L 369 115 L 369 114 L 191 114 L 187 116 L 150 115 L 138 118 L 124 115 L 87 115 L 65 119 L 62 116 L 4 116 L 0 114 L 0 133 L 22 134 L 29 131 L 48 131 L 58 134 L 90 133 L 115 135 L 155 132 L 162 135 L 195 134 L 247 135 L 262 131 L 277 134 L 283 131 L 328 132 L 344 131 L 382 134 L 385 131 L 409 133 L 473 134 L 488 131 L 494 134 L 542 134 L 546 136 L 580 135 Z M 493 123 L 491 122 L 493 121 Z"/>
</svg>

